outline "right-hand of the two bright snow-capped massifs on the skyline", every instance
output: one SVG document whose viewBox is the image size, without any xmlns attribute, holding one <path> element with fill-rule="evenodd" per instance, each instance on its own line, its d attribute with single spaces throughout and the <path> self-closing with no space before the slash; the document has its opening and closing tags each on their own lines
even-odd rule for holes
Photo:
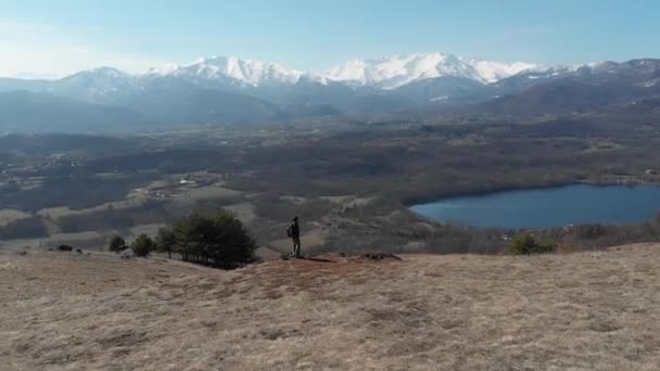
<svg viewBox="0 0 660 371">
<path fill-rule="evenodd" d="M 354 60 L 331 68 L 323 76 L 353 86 L 396 89 L 414 81 L 445 76 L 490 84 L 525 71 L 540 69 L 543 67 L 523 62 L 499 63 L 443 53 L 417 53 Z"/>
</svg>

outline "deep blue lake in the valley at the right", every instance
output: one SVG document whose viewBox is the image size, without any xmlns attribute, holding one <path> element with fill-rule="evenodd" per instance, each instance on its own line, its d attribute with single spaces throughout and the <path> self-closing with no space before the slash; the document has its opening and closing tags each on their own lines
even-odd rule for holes
<svg viewBox="0 0 660 371">
<path fill-rule="evenodd" d="M 452 197 L 410 209 L 436 221 L 475 227 L 625 223 L 649 220 L 660 212 L 660 187 L 573 184 Z"/>
</svg>

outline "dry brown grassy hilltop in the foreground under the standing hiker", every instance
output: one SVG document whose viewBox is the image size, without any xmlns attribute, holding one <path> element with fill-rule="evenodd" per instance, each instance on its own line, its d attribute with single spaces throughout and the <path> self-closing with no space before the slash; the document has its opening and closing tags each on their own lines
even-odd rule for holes
<svg viewBox="0 0 660 371">
<path fill-rule="evenodd" d="M 657 370 L 660 246 L 223 272 L 0 254 L 0 369 Z"/>
</svg>

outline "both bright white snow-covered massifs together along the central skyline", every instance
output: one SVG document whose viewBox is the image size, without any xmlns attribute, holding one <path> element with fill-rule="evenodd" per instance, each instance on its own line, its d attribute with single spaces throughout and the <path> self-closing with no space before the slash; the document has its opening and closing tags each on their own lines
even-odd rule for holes
<svg viewBox="0 0 660 371">
<path fill-rule="evenodd" d="M 437 77 L 460 77 L 491 84 L 526 71 L 543 71 L 536 64 L 500 63 L 465 59 L 443 53 L 417 53 L 348 61 L 323 73 L 302 72 L 276 63 L 241 60 L 236 56 L 200 59 L 192 64 L 166 66 L 147 76 L 172 76 L 189 80 L 221 80 L 231 85 L 261 87 L 294 85 L 305 79 L 321 85 L 329 81 L 352 87 L 395 89 L 404 85 Z"/>
</svg>

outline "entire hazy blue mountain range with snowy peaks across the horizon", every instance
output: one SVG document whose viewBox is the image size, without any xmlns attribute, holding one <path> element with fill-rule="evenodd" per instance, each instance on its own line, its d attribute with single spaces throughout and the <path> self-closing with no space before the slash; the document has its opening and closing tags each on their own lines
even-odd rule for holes
<svg viewBox="0 0 660 371">
<path fill-rule="evenodd" d="M 543 66 L 417 53 L 309 73 L 214 56 L 139 75 L 101 67 L 56 80 L 0 78 L 0 132 L 115 131 L 420 108 L 559 114 L 657 94 L 660 60 L 652 59 Z"/>
</svg>

